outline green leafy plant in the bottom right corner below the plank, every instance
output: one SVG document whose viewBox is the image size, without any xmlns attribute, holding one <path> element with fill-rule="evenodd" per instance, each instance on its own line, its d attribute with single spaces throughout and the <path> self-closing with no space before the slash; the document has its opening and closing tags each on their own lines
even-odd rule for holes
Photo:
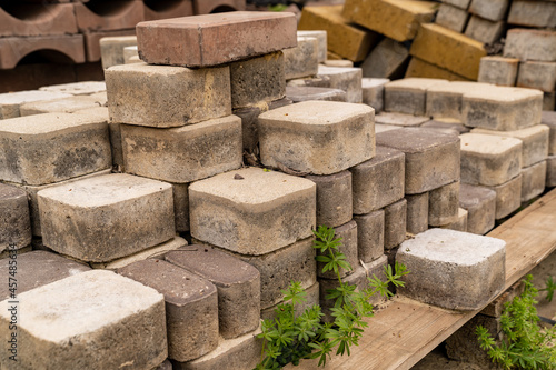
<svg viewBox="0 0 556 370">
<path fill-rule="evenodd" d="M 524 292 L 505 303 L 500 317 L 503 339 L 499 343 L 485 327 L 478 326 L 476 329 L 480 348 L 504 369 L 556 369 L 556 329 L 539 327 L 535 308 L 538 290 L 532 281 L 533 277 L 526 276 Z"/>
</svg>

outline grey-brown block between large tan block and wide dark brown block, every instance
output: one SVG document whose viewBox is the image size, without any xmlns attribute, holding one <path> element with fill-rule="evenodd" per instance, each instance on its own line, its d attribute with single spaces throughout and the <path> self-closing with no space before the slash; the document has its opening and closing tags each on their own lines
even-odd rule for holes
<svg viewBox="0 0 556 370">
<path fill-rule="evenodd" d="M 373 159 L 349 171 L 355 214 L 369 213 L 404 198 L 405 156 L 399 150 L 379 146 Z"/>
</svg>

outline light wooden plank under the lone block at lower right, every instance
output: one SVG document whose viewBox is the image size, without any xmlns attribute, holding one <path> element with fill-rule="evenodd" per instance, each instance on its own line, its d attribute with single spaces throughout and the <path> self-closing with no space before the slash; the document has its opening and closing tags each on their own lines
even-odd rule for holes
<svg viewBox="0 0 556 370">
<path fill-rule="evenodd" d="M 506 288 L 556 250 L 556 189 L 488 233 L 506 241 Z M 410 369 L 478 311 L 458 312 L 396 297 L 367 320 L 369 328 L 350 357 L 332 357 L 325 369 Z M 299 367 L 317 369 L 317 361 Z"/>
</svg>

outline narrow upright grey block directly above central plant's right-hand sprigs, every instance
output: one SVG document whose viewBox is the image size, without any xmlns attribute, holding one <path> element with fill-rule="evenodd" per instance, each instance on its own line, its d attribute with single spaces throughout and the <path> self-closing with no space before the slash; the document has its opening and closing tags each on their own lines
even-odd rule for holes
<svg viewBox="0 0 556 370">
<path fill-rule="evenodd" d="M 427 203 L 428 204 L 428 203 Z M 369 263 L 384 254 L 384 210 L 367 214 L 354 214 L 357 223 L 357 254 L 359 260 Z"/>
</svg>

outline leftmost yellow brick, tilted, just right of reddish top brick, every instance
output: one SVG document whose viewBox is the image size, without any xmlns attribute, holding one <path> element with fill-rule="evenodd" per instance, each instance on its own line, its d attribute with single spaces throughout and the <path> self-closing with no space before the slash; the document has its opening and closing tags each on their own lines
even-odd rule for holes
<svg viewBox="0 0 556 370">
<path fill-rule="evenodd" d="M 379 39 L 373 31 L 349 24 L 341 17 L 341 6 L 305 7 L 298 29 L 327 31 L 328 50 L 351 61 L 363 61 Z"/>
</svg>

